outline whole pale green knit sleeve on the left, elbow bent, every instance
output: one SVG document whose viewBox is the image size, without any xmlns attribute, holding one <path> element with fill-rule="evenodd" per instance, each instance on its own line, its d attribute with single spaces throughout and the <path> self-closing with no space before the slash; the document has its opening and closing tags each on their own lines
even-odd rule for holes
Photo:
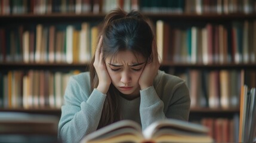
<svg viewBox="0 0 256 143">
<path fill-rule="evenodd" d="M 81 82 L 82 83 L 82 82 Z M 79 142 L 97 129 L 106 95 L 97 89 L 85 91 L 85 86 L 70 77 L 64 94 L 64 105 L 58 123 L 58 139 L 61 142 Z M 87 88 L 89 89 L 89 88 Z"/>
</svg>

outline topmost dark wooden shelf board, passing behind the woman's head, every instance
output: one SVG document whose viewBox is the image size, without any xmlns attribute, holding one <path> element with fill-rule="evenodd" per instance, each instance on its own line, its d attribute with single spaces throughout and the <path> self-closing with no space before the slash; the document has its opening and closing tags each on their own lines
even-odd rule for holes
<svg viewBox="0 0 256 143">
<path fill-rule="evenodd" d="M 229 21 L 229 20 L 250 20 L 255 19 L 256 14 L 171 14 L 171 13 L 143 13 L 146 17 L 152 20 L 186 20 L 186 21 Z M 0 21 L 3 23 L 10 23 L 15 21 L 22 21 L 31 23 L 35 22 L 63 22 L 63 21 L 102 21 L 105 13 L 52 13 L 52 14 L 11 14 L 0 15 Z"/>
</svg>

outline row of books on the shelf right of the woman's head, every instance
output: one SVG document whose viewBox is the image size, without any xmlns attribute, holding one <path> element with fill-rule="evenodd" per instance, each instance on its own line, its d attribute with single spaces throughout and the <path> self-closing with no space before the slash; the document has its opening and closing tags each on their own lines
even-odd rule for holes
<svg viewBox="0 0 256 143">
<path fill-rule="evenodd" d="M 163 61 L 190 64 L 256 63 L 256 21 L 205 26 L 178 26 L 156 21 Z"/>
</svg>

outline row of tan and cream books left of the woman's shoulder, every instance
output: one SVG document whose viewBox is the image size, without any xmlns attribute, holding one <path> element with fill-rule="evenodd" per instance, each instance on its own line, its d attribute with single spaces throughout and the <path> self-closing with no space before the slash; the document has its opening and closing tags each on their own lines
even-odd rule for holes
<svg viewBox="0 0 256 143">
<path fill-rule="evenodd" d="M 0 73 L 0 108 L 60 108 L 69 73 L 43 70 Z"/>
</svg>

